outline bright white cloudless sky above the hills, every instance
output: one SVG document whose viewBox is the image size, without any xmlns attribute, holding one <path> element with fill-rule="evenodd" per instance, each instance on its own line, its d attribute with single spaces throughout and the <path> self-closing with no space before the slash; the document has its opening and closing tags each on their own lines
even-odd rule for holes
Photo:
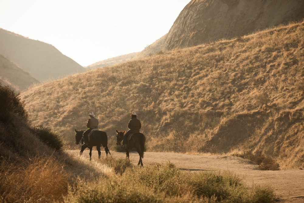
<svg viewBox="0 0 304 203">
<path fill-rule="evenodd" d="M 188 2 L 0 0 L 0 28 L 52 44 L 87 66 L 142 51 L 168 33 Z"/>
</svg>

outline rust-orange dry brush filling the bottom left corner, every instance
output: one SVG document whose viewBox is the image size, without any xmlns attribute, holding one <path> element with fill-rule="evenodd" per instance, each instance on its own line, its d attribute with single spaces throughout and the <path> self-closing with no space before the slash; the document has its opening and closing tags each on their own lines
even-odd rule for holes
<svg viewBox="0 0 304 203">
<path fill-rule="evenodd" d="M 54 157 L 36 156 L 0 162 L 1 202 L 63 201 L 67 194 L 67 176 Z"/>
</svg>

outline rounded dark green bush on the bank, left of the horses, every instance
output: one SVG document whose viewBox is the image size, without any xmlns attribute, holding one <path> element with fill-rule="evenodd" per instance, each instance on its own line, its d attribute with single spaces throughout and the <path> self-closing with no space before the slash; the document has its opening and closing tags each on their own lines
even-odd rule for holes
<svg viewBox="0 0 304 203">
<path fill-rule="evenodd" d="M 59 150 L 64 146 L 63 138 L 52 128 L 36 125 L 31 127 L 31 131 L 43 143 L 47 144 L 52 149 Z"/>
</svg>

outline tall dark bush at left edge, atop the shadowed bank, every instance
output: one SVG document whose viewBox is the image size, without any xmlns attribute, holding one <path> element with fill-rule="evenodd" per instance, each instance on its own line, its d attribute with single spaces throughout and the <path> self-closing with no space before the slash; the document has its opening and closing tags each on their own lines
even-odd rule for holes
<svg viewBox="0 0 304 203">
<path fill-rule="evenodd" d="M 0 121 L 7 123 L 10 120 L 9 112 L 13 112 L 23 119 L 28 119 L 28 113 L 24 109 L 24 101 L 20 99 L 20 93 L 15 93 L 9 86 L 2 86 L 0 82 Z"/>
</svg>

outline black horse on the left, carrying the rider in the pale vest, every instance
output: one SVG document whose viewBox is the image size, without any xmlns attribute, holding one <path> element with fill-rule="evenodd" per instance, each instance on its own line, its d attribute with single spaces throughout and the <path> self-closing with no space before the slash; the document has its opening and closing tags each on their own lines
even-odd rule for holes
<svg viewBox="0 0 304 203">
<path fill-rule="evenodd" d="M 81 144 L 83 144 L 83 139 L 82 139 L 82 134 L 85 130 L 76 130 L 75 129 L 75 144 L 78 145 L 79 142 L 81 141 Z M 92 156 L 92 148 L 94 146 L 96 146 L 97 148 L 97 151 L 98 151 L 98 159 L 100 159 L 100 155 L 101 155 L 101 152 L 100 152 L 100 146 L 103 146 L 104 149 L 105 149 L 105 153 L 107 154 L 108 156 L 108 152 L 109 154 L 111 155 L 109 149 L 108 149 L 108 136 L 106 134 L 106 132 L 104 131 L 94 131 L 92 132 L 92 135 L 90 137 L 90 142 L 89 142 L 89 146 L 88 148 L 90 149 L 90 161 L 91 161 L 91 156 Z M 85 150 L 85 148 L 87 148 L 87 146 L 81 146 L 81 150 L 80 150 L 80 156 L 83 152 L 83 150 Z"/>
</svg>

